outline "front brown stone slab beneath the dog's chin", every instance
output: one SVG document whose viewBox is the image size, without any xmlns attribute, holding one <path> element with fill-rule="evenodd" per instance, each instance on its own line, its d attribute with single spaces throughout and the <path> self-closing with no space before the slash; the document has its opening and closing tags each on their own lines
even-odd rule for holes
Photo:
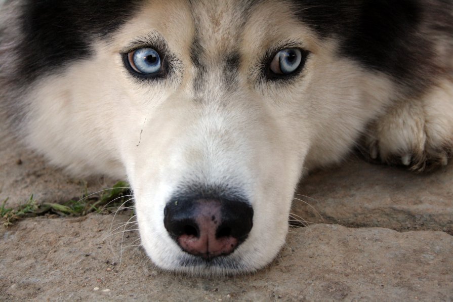
<svg viewBox="0 0 453 302">
<path fill-rule="evenodd" d="M 3 230 L 0 300 L 453 298 L 453 236 L 444 232 L 313 225 L 292 229 L 265 270 L 196 278 L 155 269 L 136 245 L 136 232 L 112 231 L 129 218 L 29 219 Z"/>
</svg>

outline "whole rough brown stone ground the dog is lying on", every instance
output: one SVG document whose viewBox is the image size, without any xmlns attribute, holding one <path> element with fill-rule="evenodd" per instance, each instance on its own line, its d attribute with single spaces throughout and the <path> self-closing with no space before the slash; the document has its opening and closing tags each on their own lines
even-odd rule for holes
<svg viewBox="0 0 453 302">
<path fill-rule="evenodd" d="M 114 180 L 66 177 L 0 140 L 0 201 L 55 202 Z M 32 218 L 0 228 L 0 300 L 453 301 L 453 165 L 428 175 L 354 156 L 300 185 L 292 228 L 256 274 L 162 272 L 140 247 L 131 212 Z M 309 204 L 309 205 L 307 205 Z"/>
</svg>

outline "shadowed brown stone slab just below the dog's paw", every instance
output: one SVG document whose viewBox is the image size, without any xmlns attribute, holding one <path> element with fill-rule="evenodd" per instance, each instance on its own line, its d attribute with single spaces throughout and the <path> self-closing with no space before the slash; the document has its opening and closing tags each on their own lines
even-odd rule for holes
<svg viewBox="0 0 453 302">
<path fill-rule="evenodd" d="M 313 223 L 453 235 L 453 164 L 413 174 L 351 158 L 311 173 L 295 198 L 293 213 Z"/>
</svg>

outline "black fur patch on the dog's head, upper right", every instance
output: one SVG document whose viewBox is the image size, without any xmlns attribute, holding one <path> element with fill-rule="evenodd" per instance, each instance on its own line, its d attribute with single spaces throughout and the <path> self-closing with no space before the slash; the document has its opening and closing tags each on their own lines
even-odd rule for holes
<svg viewBox="0 0 453 302">
<path fill-rule="evenodd" d="M 441 18 L 443 28 L 431 30 L 453 32 L 451 0 L 301 0 L 295 5 L 301 22 L 322 38 L 340 41 L 339 55 L 392 76 L 412 94 L 431 84 L 433 78 L 424 75 L 439 72 L 431 41 L 420 34 L 422 22 Z"/>
</svg>

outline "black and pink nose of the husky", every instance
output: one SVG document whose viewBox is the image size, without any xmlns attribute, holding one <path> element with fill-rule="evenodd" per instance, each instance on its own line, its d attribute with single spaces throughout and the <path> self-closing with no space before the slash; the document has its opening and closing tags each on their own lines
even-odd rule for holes
<svg viewBox="0 0 453 302">
<path fill-rule="evenodd" d="M 164 208 L 163 223 L 184 251 L 211 259 L 232 253 L 247 238 L 253 209 L 243 201 L 174 199 Z"/>
</svg>

